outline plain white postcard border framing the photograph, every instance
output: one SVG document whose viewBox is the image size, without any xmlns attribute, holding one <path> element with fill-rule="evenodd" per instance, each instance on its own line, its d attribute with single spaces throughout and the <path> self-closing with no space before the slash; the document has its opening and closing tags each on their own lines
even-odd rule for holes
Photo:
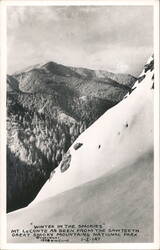
<svg viewBox="0 0 160 250">
<path fill-rule="evenodd" d="M 154 7 L 154 58 L 155 58 L 155 97 L 154 97 L 154 243 L 34 243 L 34 244 L 12 244 L 7 243 L 6 227 L 6 72 L 7 72 L 7 23 L 6 8 L 7 6 L 54 6 L 54 5 L 128 5 L 128 6 L 153 6 Z M 1 249 L 159 249 L 159 0 L 50 0 L 50 1 L 7 1 L 0 2 L 1 14 L 1 63 L 0 63 L 0 187 L 1 187 L 1 204 L 0 219 L 1 230 L 0 240 Z"/>
</svg>

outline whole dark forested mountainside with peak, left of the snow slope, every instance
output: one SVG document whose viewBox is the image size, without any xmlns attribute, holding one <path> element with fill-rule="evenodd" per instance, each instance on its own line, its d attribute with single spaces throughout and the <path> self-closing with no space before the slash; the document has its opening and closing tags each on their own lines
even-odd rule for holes
<svg viewBox="0 0 160 250">
<path fill-rule="evenodd" d="M 35 198 L 79 134 L 135 80 L 53 62 L 7 77 L 8 212 Z"/>
</svg>

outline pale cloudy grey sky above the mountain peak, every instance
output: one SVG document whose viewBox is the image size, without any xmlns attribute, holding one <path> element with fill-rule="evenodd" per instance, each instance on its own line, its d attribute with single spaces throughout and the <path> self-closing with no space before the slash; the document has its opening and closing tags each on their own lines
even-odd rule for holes
<svg viewBox="0 0 160 250">
<path fill-rule="evenodd" d="M 138 75 L 153 53 L 151 6 L 8 6 L 7 64 L 34 64 Z"/>
</svg>

